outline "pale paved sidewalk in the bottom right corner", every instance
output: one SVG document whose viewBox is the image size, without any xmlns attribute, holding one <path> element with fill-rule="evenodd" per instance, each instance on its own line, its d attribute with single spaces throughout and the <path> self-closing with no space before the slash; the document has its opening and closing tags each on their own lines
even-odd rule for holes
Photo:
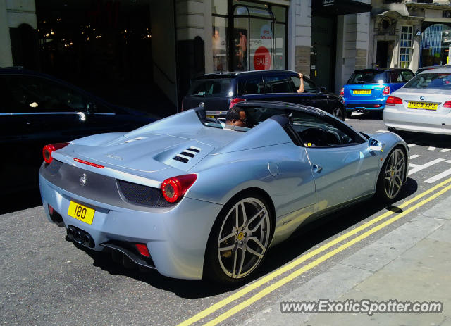
<svg viewBox="0 0 451 326">
<path fill-rule="evenodd" d="M 451 326 L 451 196 L 240 325 Z M 286 301 L 440 301 L 442 313 L 281 313 Z"/>
</svg>

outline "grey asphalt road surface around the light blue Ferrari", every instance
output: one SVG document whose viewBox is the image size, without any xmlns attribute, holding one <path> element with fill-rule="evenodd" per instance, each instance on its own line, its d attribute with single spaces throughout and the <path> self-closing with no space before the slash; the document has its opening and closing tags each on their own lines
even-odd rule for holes
<svg viewBox="0 0 451 326">
<path fill-rule="evenodd" d="M 385 131 L 382 120 L 353 115 L 347 123 L 366 133 Z M 256 279 L 280 270 L 299 257 L 321 248 L 378 215 L 399 213 L 401 203 L 425 192 L 451 176 L 451 139 L 425 134 L 402 134 L 411 157 L 409 180 L 400 201 L 385 207 L 371 199 L 309 225 L 296 237 L 270 251 Z M 215 303 L 230 296 L 244 302 L 255 292 L 243 294 L 252 284 L 226 288 L 205 281 L 172 280 L 158 272 L 142 273 L 112 263 L 101 253 L 80 250 L 65 240 L 65 230 L 44 216 L 35 193 L 16 196 L 2 203 L 9 213 L 0 215 L 0 325 L 178 325 L 204 311 L 205 318 L 192 325 L 204 325 L 233 304 L 216 309 Z M 277 303 L 284 294 L 326 272 L 342 260 L 388 232 L 400 227 L 429 207 L 416 211 L 371 234 L 290 282 L 276 287 L 245 308 L 228 313 L 219 325 L 240 325 L 257 311 Z M 35 206 L 35 207 L 33 207 Z M 20 211 L 17 211 L 20 209 Z M 402 210 L 401 210 L 402 211 Z M 333 247 L 332 247 L 333 248 Z M 306 261 L 308 263 L 309 261 Z M 301 265 L 297 266 L 299 268 Z M 269 288 L 283 275 L 262 284 Z M 261 289 L 259 288 L 259 289 Z M 243 295 L 242 295 L 243 294 Z M 211 308 L 210 308 L 211 307 Z M 205 309 L 209 308 L 209 311 Z M 185 325 L 191 325 L 190 322 Z M 216 321 L 211 322 L 216 325 Z"/>
</svg>

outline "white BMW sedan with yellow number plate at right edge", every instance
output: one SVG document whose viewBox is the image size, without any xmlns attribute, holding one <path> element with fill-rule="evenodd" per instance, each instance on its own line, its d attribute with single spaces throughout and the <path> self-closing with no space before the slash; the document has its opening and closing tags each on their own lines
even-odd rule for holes
<svg viewBox="0 0 451 326">
<path fill-rule="evenodd" d="M 426 70 L 388 97 L 388 130 L 451 134 L 451 70 Z"/>
</svg>

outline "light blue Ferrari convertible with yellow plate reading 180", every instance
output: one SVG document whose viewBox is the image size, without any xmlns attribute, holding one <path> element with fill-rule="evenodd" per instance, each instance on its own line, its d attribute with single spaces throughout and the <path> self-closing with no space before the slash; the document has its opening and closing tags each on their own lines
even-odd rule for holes
<svg viewBox="0 0 451 326">
<path fill-rule="evenodd" d="M 196 108 L 45 146 L 47 217 L 125 265 L 238 282 L 305 222 L 376 193 L 393 201 L 407 179 L 409 149 L 397 134 L 368 137 L 296 104 L 235 109 L 247 127 Z"/>
</svg>

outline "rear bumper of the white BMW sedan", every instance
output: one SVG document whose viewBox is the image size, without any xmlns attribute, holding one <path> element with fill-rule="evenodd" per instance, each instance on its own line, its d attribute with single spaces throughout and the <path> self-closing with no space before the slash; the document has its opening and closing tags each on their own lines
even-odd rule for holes
<svg viewBox="0 0 451 326">
<path fill-rule="evenodd" d="M 385 126 L 397 130 L 451 135 L 451 114 L 431 114 L 428 111 L 412 113 L 387 107 L 383 111 L 383 122 Z"/>
</svg>

